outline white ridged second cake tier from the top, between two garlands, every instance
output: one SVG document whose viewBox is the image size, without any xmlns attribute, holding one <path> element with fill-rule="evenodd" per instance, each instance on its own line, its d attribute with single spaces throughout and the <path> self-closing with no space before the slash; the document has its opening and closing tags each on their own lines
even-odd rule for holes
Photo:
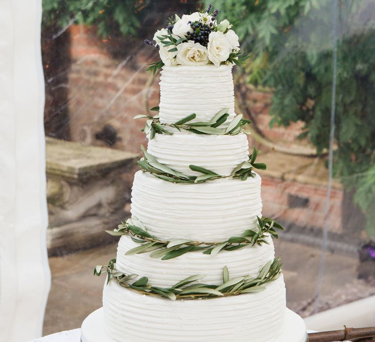
<svg viewBox="0 0 375 342">
<path fill-rule="evenodd" d="M 194 133 L 156 134 L 147 151 L 162 164 L 187 175 L 200 175 L 189 165 L 197 165 L 221 175 L 229 175 L 249 159 L 246 134 L 204 135 Z"/>
</svg>

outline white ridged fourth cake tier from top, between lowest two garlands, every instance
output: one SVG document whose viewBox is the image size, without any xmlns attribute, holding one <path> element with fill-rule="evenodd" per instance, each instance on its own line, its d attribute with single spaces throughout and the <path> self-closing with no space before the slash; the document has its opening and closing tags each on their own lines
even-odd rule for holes
<svg viewBox="0 0 375 342">
<path fill-rule="evenodd" d="M 122 236 L 117 249 L 116 268 L 126 274 L 146 276 L 155 286 L 169 287 L 193 274 L 203 274 L 203 282 L 220 284 L 223 268 L 227 266 L 232 278 L 250 275 L 256 277 L 262 267 L 274 259 L 271 237 L 269 245 L 248 246 L 234 251 L 221 251 L 216 256 L 203 254 L 202 251 L 189 252 L 182 256 L 162 260 L 154 259 L 149 253 L 125 256 L 125 253 L 139 244 Z"/>
</svg>

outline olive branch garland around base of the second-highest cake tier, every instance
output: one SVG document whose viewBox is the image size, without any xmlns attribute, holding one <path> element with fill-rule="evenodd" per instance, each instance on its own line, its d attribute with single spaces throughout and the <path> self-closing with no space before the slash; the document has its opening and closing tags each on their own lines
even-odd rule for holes
<svg viewBox="0 0 375 342">
<path fill-rule="evenodd" d="M 256 157 L 259 151 L 253 148 L 252 153 L 249 155 L 249 160 L 240 163 L 229 175 L 220 175 L 214 171 L 202 168 L 196 165 L 189 165 L 190 170 L 202 173 L 199 176 L 187 176 L 186 174 L 173 170 L 167 165 L 159 163 L 157 159 L 148 153 L 143 145 L 141 150 L 144 154 L 143 159 L 137 163 L 143 171 L 149 172 L 153 176 L 166 180 L 172 183 L 203 183 L 208 180 L 214 180 L 219 178 L 240 178 L 242 180 L 248 179 L 248 177 L 255 177 L 253 169 L 266 170 L 267 165 L 264 163 L 255 163 Z"/>
</svg>

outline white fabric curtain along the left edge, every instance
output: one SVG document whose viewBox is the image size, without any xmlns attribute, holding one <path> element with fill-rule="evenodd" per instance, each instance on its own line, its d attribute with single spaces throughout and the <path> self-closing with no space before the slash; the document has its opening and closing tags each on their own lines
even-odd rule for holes
<svg viewBox="0 0 375 342">
<path fill-rule="evenodd" d="M 0 341 L 42 335 L 50 288 L 42 0 L 0 0 Z"/>
</svg>

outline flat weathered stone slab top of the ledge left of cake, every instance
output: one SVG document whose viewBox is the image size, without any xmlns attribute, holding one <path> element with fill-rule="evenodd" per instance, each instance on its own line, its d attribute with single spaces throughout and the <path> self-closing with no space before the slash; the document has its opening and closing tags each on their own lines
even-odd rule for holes
<svg viewBox="0 0 375 342">
<path fill-rule="evenodd" d="M 100 177 L 121 166 L 133 166 L 139 154 L 46 138 L 46 172 L 69 180 Z"/>
</svg>

